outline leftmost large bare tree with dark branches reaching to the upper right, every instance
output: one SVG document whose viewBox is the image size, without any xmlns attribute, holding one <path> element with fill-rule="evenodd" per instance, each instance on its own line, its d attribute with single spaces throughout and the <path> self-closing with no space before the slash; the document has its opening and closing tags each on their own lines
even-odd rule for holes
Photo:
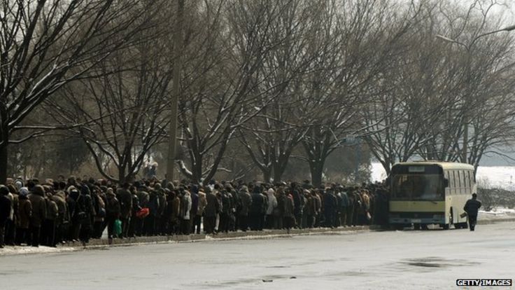
<svg viewBox="0 0 515 290">
<path fill-rule="evenodd" d="M 0 181 L 8 143 L 41 102 L 127 45 L 148 5 L 114 0 L 3 0 L 0 4 Z M 113 25 L 115 23 L 115 25 Z M 108 28 L 106 28 L 108 27 Z"/>
</svg>

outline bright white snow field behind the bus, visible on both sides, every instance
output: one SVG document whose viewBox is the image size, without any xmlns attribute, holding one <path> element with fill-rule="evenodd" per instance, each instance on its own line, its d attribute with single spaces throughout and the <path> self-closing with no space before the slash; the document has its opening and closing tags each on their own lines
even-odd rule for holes
<svg viewBox="0 0 515 290">
<path fill-rule="evenodd" d="M 386 179 L 386 172 L 381 163 L 372 163 L 372 181 Z M 515 166 L 479 166 L 477 168 L 479 184 L 515 191 Z"/>
</svg>

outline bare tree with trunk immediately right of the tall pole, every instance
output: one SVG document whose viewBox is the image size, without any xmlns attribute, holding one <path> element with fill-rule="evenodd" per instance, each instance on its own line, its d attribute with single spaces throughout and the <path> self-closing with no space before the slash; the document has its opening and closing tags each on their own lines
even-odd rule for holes
<svg viewBox="0 0 515 290">
<path fill-rule="evenodd" d="M 196 27 L 200 40 L 185 46 L 197 55 L 184 68 L 179 120 L 189 164 L 179 160 L 179 165 L 194 181 L 213 178 L 237 128 L 260 113 L 260 95 L 274 90 L 259 91 L 264 77 L 258 74 L 265 55 L 280 44 L 271 39 L 271 31 L 285 5 L 271 0 L 216 3 L 198 10 L 197 17 L 209 25 Z"/>
</svg>

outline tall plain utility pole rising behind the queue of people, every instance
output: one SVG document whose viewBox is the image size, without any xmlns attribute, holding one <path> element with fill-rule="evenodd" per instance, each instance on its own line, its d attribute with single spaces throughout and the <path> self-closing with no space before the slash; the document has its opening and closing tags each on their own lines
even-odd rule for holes
<svg viewBox="0 0 515 290">
<path fill-rule="evenodd" d="M 172 76 L 171 90 L 171 120 L 169 125 L 168 139 L 168 158 L 167 158 L 167 181 L 174 181 L 174 164 L 175 153 L 177 148 L 177 114 L 178 99 L 181 94 L 181 65 L 183 55 L 183 18 L 184 18 L 184 0 L 177 0 L 177 16 L 174 31 L 174 71 Z"/>
</svg>

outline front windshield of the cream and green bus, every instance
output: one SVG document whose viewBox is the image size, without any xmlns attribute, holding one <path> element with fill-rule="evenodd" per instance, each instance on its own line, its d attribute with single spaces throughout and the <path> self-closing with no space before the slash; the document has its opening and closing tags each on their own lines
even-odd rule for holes
<svg viewBox="0 0 515 290">
<path fill-rule="evenodd" d="M 392 181 L 392 199 L 444 200 L 442 174 L 395 174 Z"/>
</svg>

